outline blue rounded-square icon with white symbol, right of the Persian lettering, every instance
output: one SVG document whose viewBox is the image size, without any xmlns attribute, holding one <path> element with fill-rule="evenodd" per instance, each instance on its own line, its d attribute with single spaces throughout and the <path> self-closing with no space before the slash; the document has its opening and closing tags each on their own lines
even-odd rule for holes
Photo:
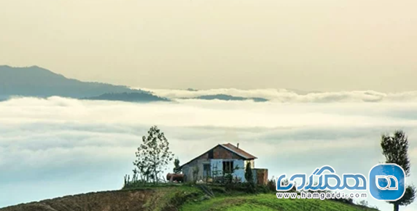
<svg viewBox="0 0 417 211">
<path fill-rule="evenodd" d="M 379 201 L 397 201 L 405 193 L 405 172 L 398 164 L 377 164 L 369 171 L 369 192 Z"/>
</svg>

